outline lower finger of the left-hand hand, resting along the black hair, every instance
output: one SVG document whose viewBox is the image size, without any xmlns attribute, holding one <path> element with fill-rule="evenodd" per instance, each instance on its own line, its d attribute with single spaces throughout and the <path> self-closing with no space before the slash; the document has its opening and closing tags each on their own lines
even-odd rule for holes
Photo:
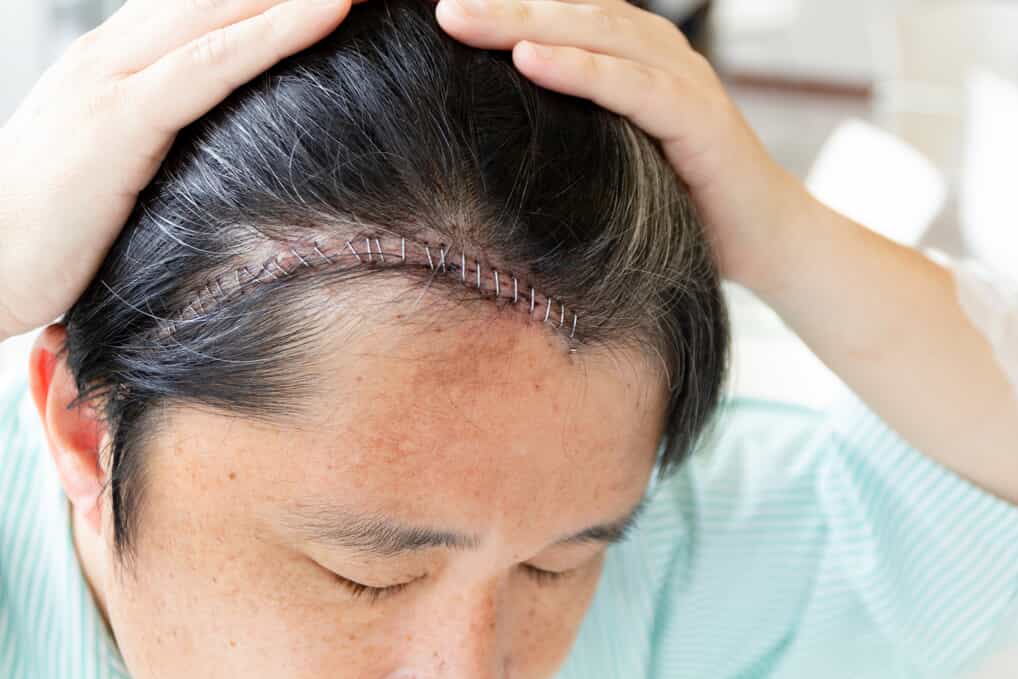
<svg viewBox="0 0 1018 679">
<path fill-rule="evenodd" d="M 236 88 L 324 38 L 348 10 L 348 0 L 291 0 L 276 5 L 206 34 L 129 76 L 126 96 L 137 102 L 142 120 L 175 133 Z"/>
</svg>

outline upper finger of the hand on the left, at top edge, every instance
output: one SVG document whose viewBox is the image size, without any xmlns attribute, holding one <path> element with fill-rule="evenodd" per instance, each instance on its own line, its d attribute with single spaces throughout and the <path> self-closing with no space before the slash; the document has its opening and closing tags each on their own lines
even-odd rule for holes
<svg viewBox="0 0 1018 679">
<path fill-rule="evenodd" d="M 118 73 L 137 72 L 208 33 L 287 2 L 317 11 L 314 3 L 305 0 L 132 0 L 110 17 L 108 26 L 104 26 L 105 41 L 118 48 L 110 57 L 113 69 Z M 338 11 L 349 1 L 331 4 Z M 126 49 L 120 49 L 124 47 Z"/>
</svg>

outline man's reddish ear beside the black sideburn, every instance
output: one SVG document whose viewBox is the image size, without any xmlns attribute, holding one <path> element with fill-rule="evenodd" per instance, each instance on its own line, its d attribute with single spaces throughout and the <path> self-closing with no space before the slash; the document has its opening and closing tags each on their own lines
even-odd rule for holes
<svg viewBox="0 0 1018 679">
<path fill-rule="evenodd" d="M 66 337 L 67 330 L 59 323 L 39 334 L 29 355 L 29 386 L 64 493 L 98 534 L 105 478 L 99 451 L 105 426 L 88 404 L 67 408 L 77 387 L 66 360 L 58 357 Z"/>
</svg>

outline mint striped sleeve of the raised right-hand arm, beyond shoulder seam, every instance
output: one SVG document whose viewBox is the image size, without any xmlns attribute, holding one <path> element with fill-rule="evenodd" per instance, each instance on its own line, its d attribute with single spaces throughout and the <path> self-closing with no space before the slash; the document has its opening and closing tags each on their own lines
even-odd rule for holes
<svg viewBox="0 0 1018 679">
<path fill-rule="evenodd" d="M 819 497 L 862 539 L 847 567 L 874 623 L 928 675 L 1018 642 L 1002 638 L 1018 613 L 1018 507 L 911 448 L 854 395 L 830 426 Z"/>
</svg>

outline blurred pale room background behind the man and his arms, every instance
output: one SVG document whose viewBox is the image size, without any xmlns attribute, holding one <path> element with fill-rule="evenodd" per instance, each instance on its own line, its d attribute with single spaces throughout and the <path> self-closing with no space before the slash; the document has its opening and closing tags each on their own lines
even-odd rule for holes
<svg viewBox="0 0 1018 679">
<path fill-rule="evenodd" d="M 0 121 L 69 41 L 119 4 L 0 0 Z M 1018 2 L 637 4 L 693 38 L 774 155 L 824 201 L 904 242 L 998 268 L 1018 262 L 1005 203 L 1018 163 Z M 827 402 L 833 376 L 751 295 L 728 292 L 732 388 Z M 0 348 L 0 375 L 23 370 L 30 341 Z"/>
</svg>

